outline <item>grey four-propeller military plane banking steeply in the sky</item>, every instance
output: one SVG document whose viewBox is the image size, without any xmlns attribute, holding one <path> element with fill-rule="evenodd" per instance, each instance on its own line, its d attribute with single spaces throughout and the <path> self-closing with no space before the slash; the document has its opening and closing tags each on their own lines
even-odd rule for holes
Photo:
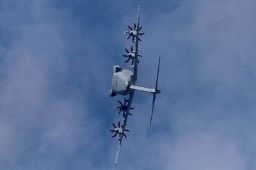
<svg viewBox="0 0 256 170">
<path fill-rule="evenodd" d="M 124 98 L 124 104 L 121 101 L 118 101 L 120 106 L 115 106 L 116 109 L 118 109 L 118 112 L 116 115 L 119 115 L 121 112 L 123 113 L 124 122 L 121 125 L 121 121 L 118 122 L 118 126 L 113 124 L 114 130 L 109 130 L 110 132 L 115 132 L 115 134 L 112 136 L 112 138 L 115 138 L 115 136 L 118 135 L 118 148 L 115 155 L 115 165 L 118 159 L 118 155 L 120 152 L 120 146 L 122 144 L 122 139 L 127 138 L 126 134 L 124 132 L 129 132 L 128 129 L 126 129 L 128 116 L 131 115 L 130 110 L 133 110 L 134 108 L 131 108 L 132 99 L 134 97 L 135 90 L 140 90 L 143 92 L 150 92 L 153 94 L 153 101 L 152 101 L 152 108 L 150 112 L 150 118 L 149 118 L 149 127 L 151 126 L 152 122 L 152 115 L 154 111 L 154 104 L 156 100 L 156 95 L 160 93 L 160 90 L 157 89 L 157 82 L 158 82 L 158 75 L 159 75 L 159 66 L 160 66 L 160 57 L 158 60 L 158 67 L 157 67 L 157 76 L 156 76 L 156 86 L 154 89 L 146 88 L 146 87 L 140 87 L 136 85 L 137 81 L 137 74 L 138 74 L 138 64 L 140 63 L 138 60 L 138 57 L 142 57 L 141 54 L 138 53 L 140 50 L 139 48 L 139 41 L 141 39 L 139 36 L 143 35 L 144 33 L 141 33 L 141 26 L 140 26 L 140 2 L 138 3 L 138 17 L 137 17 L 137 23 L 134 23 L 134 28 L 128 26 L 129 31 L 125 31 L 124 34 L 128 34 L 126 40 L 129 38 L 132 39 L 132 47 L 131 52 L 125 48 L 125 52 L 127 52 L 126 55 L 123 55 L 123 57 L 127 58 L 125 60 L 125 63 L 129 62 L 131 60 L 131 67 L 133 68 L 133 71 L 122 69 L 120 66 L 113 66 L 113 78 L 111 83 L 111 90 L 109 90 L 109 96 L 113 97 L 118 95 L 127 96 L 129 95 L 129 99 Z M 133 45 L 135 45 L 135 49 L 133 49 Z M 126 105 L 127 104 L 127 105 Z"/>
</svg>

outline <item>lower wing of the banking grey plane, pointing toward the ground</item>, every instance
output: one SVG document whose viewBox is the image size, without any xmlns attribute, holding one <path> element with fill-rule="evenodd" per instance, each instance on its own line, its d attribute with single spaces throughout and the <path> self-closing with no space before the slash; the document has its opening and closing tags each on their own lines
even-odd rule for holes
<svg viewBox="0 0 256 170">
<path fill-rule="evenodd" d="M 130 108 L 131 108 L 133 96 L 134 96 L 134 90 L 131 91 L 131 94 L 129 96 L 129 102 L 128 102 L 128 105 L 127 105 L 127 110 L 125 111 L 124 122 L 121 125 L 121 127 L 122 127 L 122 134 L 121 134 L 121 136 L 119 138 L 119 142 L 118 142 L 118 146 L 117 146 L 116 157 L 115 157 L 115 165 L 116 165 L 116 162 L 117 162 L 117 159 L 118 159 L 118 155 L 119 155 L 119 152 L 120 152 L 120 147 L 121 147 L 121 144 L 122 144 L 122 139 L 124 137 L 124 131 L 125 131 L 125 127 L 127 125 L 126 122 L 128 120 L 128 117 L 129 117 L 129 111 L 130 111 Z"/>
</svg>

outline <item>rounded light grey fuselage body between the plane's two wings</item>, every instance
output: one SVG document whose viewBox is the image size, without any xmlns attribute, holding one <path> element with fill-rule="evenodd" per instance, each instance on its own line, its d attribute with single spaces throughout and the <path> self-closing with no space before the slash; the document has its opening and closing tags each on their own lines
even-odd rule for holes
<svg viewBox="0 0 256 170">
<path fill-rule="evenodd" d="M 129 94 L 129 85 L 132 83 L 133 73 L 127 69 L 113 73 L 111 90 L 116 94 Z"/>
</svg>

